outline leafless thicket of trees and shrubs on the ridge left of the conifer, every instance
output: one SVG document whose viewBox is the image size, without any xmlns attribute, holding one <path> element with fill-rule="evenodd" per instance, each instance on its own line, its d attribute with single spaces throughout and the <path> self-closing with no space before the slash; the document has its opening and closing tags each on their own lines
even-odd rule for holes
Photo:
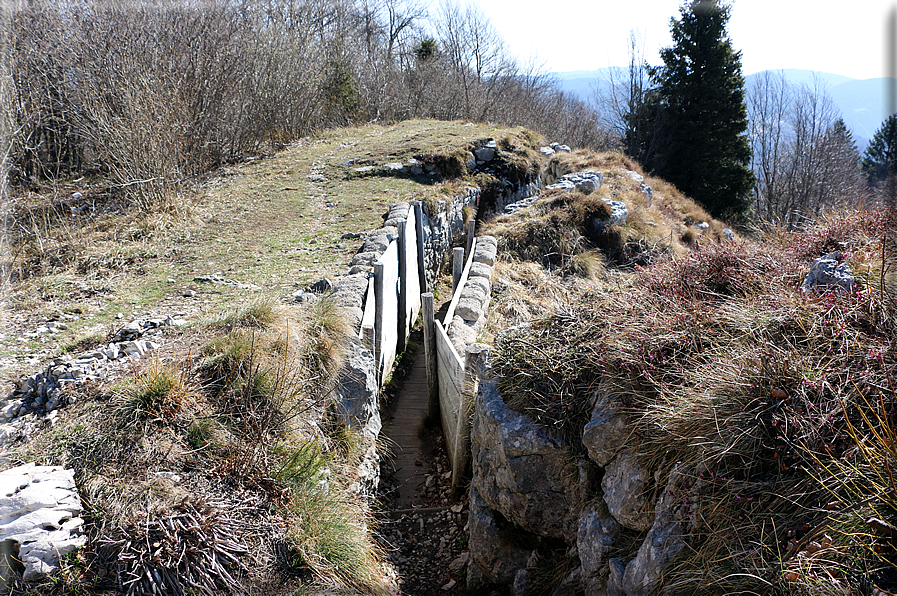
<svg viewBox="0 0 897 596">
<path fill-rule="evenodd" d="M 469 4 L 446 0 L 432 23 L 424 0 L 6 8 L 10 161 L 26 178 L 102 168 L 141 204 L 223 161 L 355 121 L 494 120 L 606 142 L 594 111 L 521 68 Z"/>
</svg>

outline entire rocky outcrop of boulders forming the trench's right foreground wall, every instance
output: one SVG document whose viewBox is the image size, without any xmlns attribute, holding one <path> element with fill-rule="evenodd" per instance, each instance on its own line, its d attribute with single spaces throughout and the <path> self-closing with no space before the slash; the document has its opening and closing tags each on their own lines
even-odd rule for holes
<svg viewBox="0 0 897 596">
<path fill-rule="evenodd" d="M 582 440 L 591 463 L 573 466 L 569 445 L 508 408 L 494 379 L 482 381 L 471 433 L 471 502 L 475 494 L 478 516 L 491 514 L 491 519 L 504 520 L 518 531 L 571 545 L 579 566 L 563 580 L 567 591 L 556 594 L 648 596 L 656 593 L 660 579 L 685 549 L 692 530 L 690 511 L 700 498 L 700 474 L 677 464 L 664 490 L 657 491 L 660 472 L 645 468 L 628 444 L 630 432 L 618 400 L 603 392 L 594 400 Z M 599 489 L 591 470 L 602 468 Z M 470 523 L 475 525 L 473 518 Z M 471 536 L 471 557 L 480 567 L 488 563 L 488 569 L 479 572 L 492 581 L 525 586 L 532 562 L 539 558 L 538 544 L 529 558 L 525 549 L 513 556 L 502 551 L 509 557 L 504 563 L 527 561 L 528 567 L 512 574 L 495 559 L 499 539 L 488 533 L 497 530 L 476 525 L 480 535 L 476 541 Z M 631 541 L 633 532 L 642 536 L 637 550 L 612 557 L 623 548 L 621 538 Z M 494 571 L 499 567 L 501 574 Z"/>
</svg>

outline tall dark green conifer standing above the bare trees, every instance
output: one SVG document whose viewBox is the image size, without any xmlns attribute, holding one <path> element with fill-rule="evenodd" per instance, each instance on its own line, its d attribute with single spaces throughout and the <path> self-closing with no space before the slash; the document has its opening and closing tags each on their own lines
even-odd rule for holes
<svg viewBox="0 0 897 596">
<path fill-rule="evenodd" d="M 714 216 L 743 216 L 754 175 L 745 135 L 741 52 L 726 33 L 730 7 L 692 0 L 671 20 L 674 45 L 654 69 L 664 112 L 664 143 L 653 160 L 660 176 Z"/>
</svg>

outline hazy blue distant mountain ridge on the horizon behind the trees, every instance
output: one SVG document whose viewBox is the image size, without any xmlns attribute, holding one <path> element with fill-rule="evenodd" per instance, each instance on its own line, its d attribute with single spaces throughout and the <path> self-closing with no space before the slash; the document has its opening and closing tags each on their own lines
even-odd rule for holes
<svg viewBox="0 0 897 596">
<path fill-rule="evenodd" d="M 750 88 L 752 84 L 764 73 L 761 71 L 745 76 L 745 84 Z M 881 126 L 887 117 L 885 101 L 887 97 L 886 84 L 892 79 L 852 79 L 843 75 L 820 72 L 814 70 L 801 70 L 796 68 L 782 69 L 785 79 L 794 85 L 810 85 L 814 77 L 821 80 L 832 100 L 841 111 L 844 123 L 853 133 L 857 148 L 863 151 L 872 135 Z M 558 78 L 561 88 L 589 101 L 594 95 L 599 83 L 606 85 L 612 75 L 625 75 L 626 68 L 611 66 L 598 70 L 575 70 L 570 72 L 558 72 L 554 75 Z"/>
</svg>

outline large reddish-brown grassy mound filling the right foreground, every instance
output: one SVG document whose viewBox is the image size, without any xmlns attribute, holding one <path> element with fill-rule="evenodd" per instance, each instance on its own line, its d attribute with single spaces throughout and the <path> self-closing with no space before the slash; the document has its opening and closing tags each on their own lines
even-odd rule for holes
<svg viewBox="0 0 897 596">
<path fill-rule="evenodd" d="M 894 223 L 860 213 L 702 243 L 497 338 L 505 400 L 574 448 L 600 389 L 659 471 L 653 490 L 678 462 L 699 471 L 672 593 L 897 586 Z M 835 250 L 855 291 L 801 292 Z"/>
</svg>

